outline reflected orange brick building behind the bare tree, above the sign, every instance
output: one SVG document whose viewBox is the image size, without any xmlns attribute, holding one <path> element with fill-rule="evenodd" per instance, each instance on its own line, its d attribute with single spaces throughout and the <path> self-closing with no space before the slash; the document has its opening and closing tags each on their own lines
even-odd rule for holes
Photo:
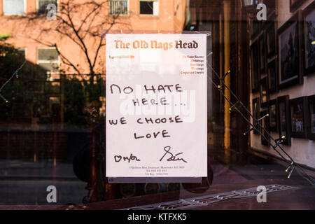
<svg viewBox="0 0 315 224">
<path fill-rule="evenodd" d="M 58 20 L 54 21 L 46 18 L 46 15 L 49 14 L 49 10 L 46 9 L 49 3 L 57 5 L 57 13 L 59 13 L 57 16 L 62 17 L 62 13 L 64 13 L 62 7 L 66 7 L 68 2 L 72 6 L 80 8 L 80 12 L 74 9 L 70 11 L 70 13 L 73 13 L 71 18 L 73 27 L 79 30 L 78 27 L 82 20 L 88 13 L 92 12 L 92 8 L 88 8 L 89 5 L 81 5 L 85 1 L 0 1 L 0 33 L 9 34 L 10 38 L 7 42 L 12 43 L 15 48 L 22 48 L 25 51 L 27 61 L 38 64 L 44 70 L 44 77 L 40 78 L 41 74 L 38 73 L 34 80 L 28 84 L 29 91 L 45 94 L 46 108 L 41 109 L 41 116 L 44 117 L 52 113 L 53 105 L 56 108 L 56 104 L 61 104 L 60 109 L 63 110 L 59 69 L 68 74 L 76 74 L 77 72 L 73 69 L 73 66 L 69 65 L 73 64 L 80 70 L 80 73 L 84 75 L 90 73 L 90 64 L 87 62 L 89 59 L 86 57 L 85 50 L 87 50 L 92 64 L 94 55 L 97 54 L 93 64 L 94 71 L 97 74 L 104 74 L 105 48 L 102 46 L 99 51 L 97 49 L 100 36 L 104 30 L 181 31 L 185 22 L 186 0 L 97 0 L 94 1 L 94 6 L 99 6 L 102 3 L 102 6 L 100 6 L 102 7 L 102 15 L 91 18 L 92 22 L 89 20 L 83 22 L 82 30 L 87 29 L 87 25 L 91 25 L 92 29 L 95 28 L 95 30 L 93 30 L 94 36 L 87 35 L 84 37 L 84 46 L 82 47 L 83 44 L 76 44 L 80 40 L 76 38 L 74 31 L 70 29 L 57 31 Z M 36 16 L 36 19 L 34 21 L 29 20 L 33 16 Z M 113 26 L 111 26 L 111 23 L 113 23 Z M 44 29 L 49 31 L 43 31 Z M 80 35 L 80 31 L 78 31 L 78 34 Z M 84 36 L 83 33 L 82 36 Z M 54 44 L 57 45 L 59 55 L 54 47 L 48 46 Z M 64 60 L 65 58 L 69 61 Z M 36 111 L 33 111 L 33 113 L 36 113 Z M 62 117 L 62 113 L 60 116 Z M 63 120 L 63 118 L 61 119 Z"/>
</svg>

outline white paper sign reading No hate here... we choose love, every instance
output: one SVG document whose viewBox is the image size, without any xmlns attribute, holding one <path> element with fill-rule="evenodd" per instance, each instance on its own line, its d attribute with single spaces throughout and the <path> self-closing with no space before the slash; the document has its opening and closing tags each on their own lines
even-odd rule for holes
<svg viewBox="0 0 315 224">
<path fill-rule="evenodd" d="M 207 176 L 207 35 L 106 35 L 106 176 Z"/>
</svg>

